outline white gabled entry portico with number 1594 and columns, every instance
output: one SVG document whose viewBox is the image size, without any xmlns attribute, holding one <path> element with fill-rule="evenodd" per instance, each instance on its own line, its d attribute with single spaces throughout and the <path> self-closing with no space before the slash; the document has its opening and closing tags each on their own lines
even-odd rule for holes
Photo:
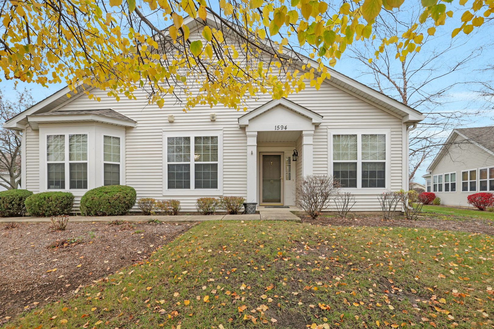
<svg viewBox="0 0 494 329">
<path fill-rule="evenodd" d="M 247 135 L 247 202 L 294 205 L 295 177 L 313 173 L 313 136 L 322 119 L 284 98 L 239 118 Z"/>
</svg>

